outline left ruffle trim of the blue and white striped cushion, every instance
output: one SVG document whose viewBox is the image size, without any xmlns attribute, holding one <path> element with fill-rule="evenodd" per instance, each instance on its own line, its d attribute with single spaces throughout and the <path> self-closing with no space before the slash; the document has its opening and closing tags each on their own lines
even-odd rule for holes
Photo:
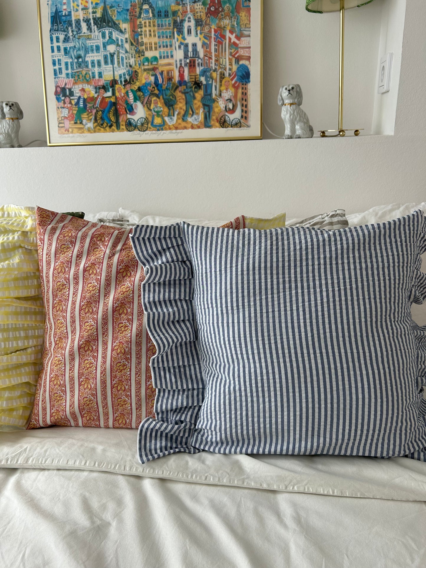
<svg viewBox="0 0 426 568">
<path fill-rule="evenodd" d="M 139 428 L 141 463 L 176 452 L 195 453 L 190 441 L 204 398 L 192 302 L 193 271 L 181 224 L 133 229 L 133 251 L 143 265 L 141 301 L 157 353 L 151 359 L 156 419 Z"/>
</svg>

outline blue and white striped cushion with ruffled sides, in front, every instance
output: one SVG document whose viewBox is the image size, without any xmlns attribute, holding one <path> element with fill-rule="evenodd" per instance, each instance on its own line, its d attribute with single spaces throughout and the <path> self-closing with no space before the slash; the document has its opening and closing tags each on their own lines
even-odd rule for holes
<svg viewBox="0 0 426 568">
<path fill-rule="evenodd" d="M 139 227 L 157 346 L 156 420 L 174 452 L 426 459 L 426 218 L 339 231 Z"/>
</svg>

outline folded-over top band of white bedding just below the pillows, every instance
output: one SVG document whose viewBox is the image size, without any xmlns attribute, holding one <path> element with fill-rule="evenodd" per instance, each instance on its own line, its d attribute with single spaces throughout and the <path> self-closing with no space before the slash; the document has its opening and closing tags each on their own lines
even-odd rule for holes
<svg viewBox="0 0 426 568">
<path fill-rule="evenodd" d="M 408 458 L 173 454 L 142 465 L 136 430 L 47 428 L 0 432 L 0 467 L 110 471 L 275 491 L 423 501 L 426 464 Z"/>
</svg>

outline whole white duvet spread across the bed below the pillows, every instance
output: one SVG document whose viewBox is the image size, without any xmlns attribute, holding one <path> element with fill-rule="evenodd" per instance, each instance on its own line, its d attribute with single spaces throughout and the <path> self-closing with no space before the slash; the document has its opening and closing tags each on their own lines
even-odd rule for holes
<svg viewBox="0 0 426 568">
<path fill-rule="evenodd" d="M 426 566 L 426 464 L 174 454 L 136 431 L 0 433 L 0 566 Z"/>
</svg>

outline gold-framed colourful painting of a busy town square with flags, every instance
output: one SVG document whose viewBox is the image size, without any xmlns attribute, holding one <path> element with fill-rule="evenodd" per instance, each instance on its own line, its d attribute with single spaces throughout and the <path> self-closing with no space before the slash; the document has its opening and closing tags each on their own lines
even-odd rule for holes
<svg viewBox="0 0 426 568">
<path fill-rule="evenodd" d="M 50 146 L 262 137 L 262 0 L 37 0 Z"/>
</svg>

